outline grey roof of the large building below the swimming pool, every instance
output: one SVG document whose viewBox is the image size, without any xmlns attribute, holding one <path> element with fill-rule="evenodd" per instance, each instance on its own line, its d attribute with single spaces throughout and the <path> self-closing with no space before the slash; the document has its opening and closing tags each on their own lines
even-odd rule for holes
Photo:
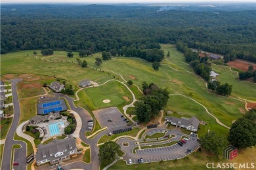
<svg viewBox="0 0 256 170">
<path fill-rule="evenodd" d="M 72 135 L 68 135 L 68 137 L 65 139 L 53 139 L 51 143 L 38 144 L 37 152 L 35 154 L 35 160 L 41 161 L 46 160 L 48 158 L 50 159 L 50 161 L 56 160 L 58 159 L 58 156 L 54 157 L 50 155 L 56 154 L 57 152 L 63 152 L 63 150 L 67 150 L 66 152 L 63 153 L 62 156 L 60 156 L 62 158 L 64 156 L 68 156 L 68 152 L 74 150 L 75 148 L 75 139 Z M 43 155 L 45 155 L 46 157 L 43 158 Z"/>
</svg>

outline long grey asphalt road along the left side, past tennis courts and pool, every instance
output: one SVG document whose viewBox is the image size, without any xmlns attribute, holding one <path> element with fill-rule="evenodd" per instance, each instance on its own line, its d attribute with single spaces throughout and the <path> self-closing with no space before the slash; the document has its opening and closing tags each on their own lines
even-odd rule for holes
<svg viewBox="0 0 256 170">
<path fill-rule="evenodd" d="M 13 100 L 13 108 L 14 108 L 14 116 L 12 119 L 12 124 L 9 129 L 9 132 L 7 133 L 7 137 L 5 139 L 5 146 L 3 148 L 3 160 L 2 160 L 2 167 L 1 169 L 11 169 L 11 158 L 12 158 L 12 145 L 13 144 L 20 144 L 22 148 L 19 149 L 19 152 L 23 153 L 23 157 L 26 159 L 26 156 L 24 154 L 27 153 L 26 149 L 26 143 L 22 141 L 14 141 L 14 133 L 16 131 L 16 128 L 18 126 L 18 122 L 20 120 L 20 103 L 18 100 L 18 93 L 17 93 L 17 88 L 16 88 L 16 83 L 20 82 L 21 79 L 15 78 L 10 80 L 12 83 L 12 100 Z M 26 161 L 20 160 L 19 165 L 15 165 L 17 169 L 25 169 L 26 170 Z"/>
</svg>

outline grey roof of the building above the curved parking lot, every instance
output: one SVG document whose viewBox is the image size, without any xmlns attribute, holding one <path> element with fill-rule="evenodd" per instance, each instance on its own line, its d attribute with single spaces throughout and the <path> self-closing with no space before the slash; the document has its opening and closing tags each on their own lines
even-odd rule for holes
<svg viewBox="0 0 256 170">
<path fill-rule="evenodd" d="M 177 117 L 174 117 L 174 116 L 167 116 L 165 118 L 167 120 L 170 120 L 171 122 L 179 125 L 179 126 L 181 126 L 181 125 L 183 125 L 183 126 L 192 125 L 196 129 L 198 129 L 198 126 L 199 126 L 199 120 L 198 120 L 198 118 L 196 118 L 196 116 L 192 116 L 191 118 L 185 118 L 185 117 L 177 118 Z"/>
</svg>

